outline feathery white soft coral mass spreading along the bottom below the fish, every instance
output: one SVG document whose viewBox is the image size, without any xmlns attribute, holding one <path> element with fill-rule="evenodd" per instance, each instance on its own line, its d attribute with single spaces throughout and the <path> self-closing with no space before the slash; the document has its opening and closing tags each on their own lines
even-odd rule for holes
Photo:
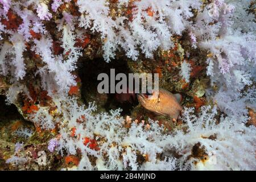
<svg viewBox="0 0 256 182">
<path fill-rule="evenodd" d="M 96 107 L 77 105 L 74 98 L 61 101 L 60 138 L 56 151 L 63 154 L 82 154 L 80 164 L 73 169 L 110 170 L 237 170 L 255 169 L 254 126 L 246 127 L 236 117 L 217 117 L 217 107 L 203 106 L 199 115 L 192 108 L 185 108 L 182 128 L 165 133 L 158 121 L 125 121 L 120 110 L 110 114 L 92 114 Z M 83 116 L 84 121 L 77 122 Z M 243 118 L 247 121 L 248 118 Z M 33 119 L 32 119 L 33 121 Z M 127 125 L 129 127 L 127 127 Z M 71 137 L 72 128 L 76 128 Z M 84 138 L 96 139 L 97 147 L 91 148 Z M 205 156 L 201 159 L 192 154 L 200 144 Z M 159 159 L 159 155 L 162 159 Z M 174 157 L 174 154 L 176 158 Z M 138 162 L 138 155 L 145 158 Z M 179 156 L 179 157 L 177 157 Z M 89 158 L 95 157 L 96 166 Z"/>
</svg>

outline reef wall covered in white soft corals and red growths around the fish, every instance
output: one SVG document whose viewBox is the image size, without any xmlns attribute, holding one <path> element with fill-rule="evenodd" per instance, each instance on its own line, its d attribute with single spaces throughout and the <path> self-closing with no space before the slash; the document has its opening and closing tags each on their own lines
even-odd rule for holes
<svg viewBox="0 0 256 182">
<path fill-rule="evenodd" d="M 1 170 L 255 170 L 256 3 L 0 1 Z M 158 73 L 178 119 L 100 73 Z M 127 88 L 129 90 L 129 88 Z"/>
</svg>

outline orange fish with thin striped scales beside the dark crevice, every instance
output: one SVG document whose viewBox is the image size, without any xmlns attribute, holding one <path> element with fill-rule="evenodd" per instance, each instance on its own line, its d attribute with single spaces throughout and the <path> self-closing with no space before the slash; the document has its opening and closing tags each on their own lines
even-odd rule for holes
<svg viewBox="0 0 256 182">
<path fill-rule="evenodd" d="M 171 119 L 177 119 L 183 107 L 180 105 L 181 94 L 172 94 L 168 90 L 159 88 L 153 90 L 152 94 L 137 95 L 141 105 L 156 114 L 169 115 Z"/>
</svg>

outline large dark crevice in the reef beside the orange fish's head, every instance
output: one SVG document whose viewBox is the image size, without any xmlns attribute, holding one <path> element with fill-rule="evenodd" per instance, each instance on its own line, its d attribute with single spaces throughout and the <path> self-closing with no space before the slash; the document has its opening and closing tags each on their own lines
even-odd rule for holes
<svg viewBox="0 0 256 182">
<path fill-rule="evenodd" d="M 101 80 L 97 80 L 100 73 L 106 73 L 110 80 L 110 69 L 118 73 L 132 73 L 126 60 L 114 59 L 106 63 L 103 59 L 82 60 L 79 64 L 79 77 L 81 79 L 81 97 L 86 105 L 96 102 L 100 111 L 110 111 L 121 108 L 121 115 L 130 115 L 131 110 L 138 105 L 135 94 L 98 93 L 97 86 Z M 110 81 L 109 81 L 110 82 Z M 119 81 L 115 81 L 117 84 Z M 127 84 L 128 85 L 128 84 Z M 109 84 L 110 90 L 110 84 Z"/>
</svg>

